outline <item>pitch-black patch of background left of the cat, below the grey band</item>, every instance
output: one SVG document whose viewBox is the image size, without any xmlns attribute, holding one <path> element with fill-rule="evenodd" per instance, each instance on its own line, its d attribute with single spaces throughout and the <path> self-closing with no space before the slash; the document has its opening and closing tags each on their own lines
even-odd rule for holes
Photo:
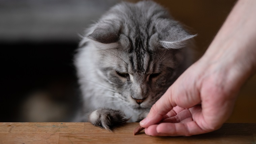
<svg viewBox="0 0 256 144">
<path fill-rule="evenodd" d="M 75 42 L 19 42 L 1 47 L 1 118 L 4 122 L 20 119 L 22 102 L 31 92 L 51 90 L 52 98 L 71 102 L 68 93 L 76 85 L 72 65 Z M 63 93 L 58 93 L 62 89 Z"/>
</svg>

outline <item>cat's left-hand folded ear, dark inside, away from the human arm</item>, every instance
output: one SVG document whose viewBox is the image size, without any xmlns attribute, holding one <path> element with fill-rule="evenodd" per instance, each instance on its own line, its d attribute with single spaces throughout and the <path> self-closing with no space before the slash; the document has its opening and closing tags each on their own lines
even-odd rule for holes
<svg viewBox="0 0 256 144">
<path fill-rule="evenodd" d="M 87 38 L 103 44 L 116 43 L 119 40 L 120 22 L 116 20 L 105 20 L 98 22 Z"/>
</svg>

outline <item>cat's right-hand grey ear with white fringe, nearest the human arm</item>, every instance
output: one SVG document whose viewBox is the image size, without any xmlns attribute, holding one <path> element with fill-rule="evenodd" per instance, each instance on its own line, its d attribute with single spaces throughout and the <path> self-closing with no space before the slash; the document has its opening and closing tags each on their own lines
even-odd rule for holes
<svg viewBox="0 0 256 144">
<path fill-rule="evenodd" d="M 159 43 L 167 49 L 180 49 L 186 47 L 188 41 L 196 36 L 189 34 L 182 26 L 173 20 L 163 19 L 157 23 Z"/>
</svg>

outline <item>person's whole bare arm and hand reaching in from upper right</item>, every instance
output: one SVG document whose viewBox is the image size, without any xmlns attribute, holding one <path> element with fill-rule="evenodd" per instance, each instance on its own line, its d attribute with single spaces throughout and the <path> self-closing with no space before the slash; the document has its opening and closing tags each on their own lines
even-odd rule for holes
<svg viewBox="0 0 256 144">
<path fill-rule="evenodd" d="M 256 0 L 239 0 L 205 54 L 140 122 L 151 136 L 191 136 L 219 129 L 241 86 L 256 71 Z"/>
</svg>

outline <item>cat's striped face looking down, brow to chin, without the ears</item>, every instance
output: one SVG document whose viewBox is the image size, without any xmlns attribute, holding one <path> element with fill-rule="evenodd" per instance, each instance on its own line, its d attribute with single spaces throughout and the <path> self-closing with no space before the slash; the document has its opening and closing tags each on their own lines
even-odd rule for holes
<svg viewBox="0 0 256 144">
<path fill-rule="evenodd" d="M 104 80 L 112 85 L 120 103 L 149 109 L 175 80 L 182 61 L 181 50 L 148 45 L 130 51 L 123 45 L 99 50 Z"/>
</svg>

